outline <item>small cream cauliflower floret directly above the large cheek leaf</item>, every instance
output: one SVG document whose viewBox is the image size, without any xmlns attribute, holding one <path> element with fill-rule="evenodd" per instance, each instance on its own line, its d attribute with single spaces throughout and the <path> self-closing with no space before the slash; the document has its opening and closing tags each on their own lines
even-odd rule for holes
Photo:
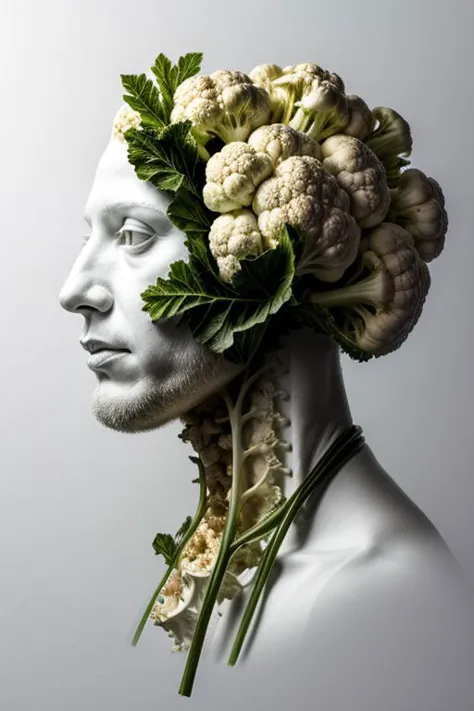
<svg viewBox="0 0 474 711">
<path fill-rule="evenodd" d="M 250 210 L 235 210 L 220 215 L 211 225 L 209 248 L 223 281 L 232 281 L 240 271 L 241 259 L 257 256 L 267 246 L 275 245 L 263 240 L 255 215 Z"/>
</svg>

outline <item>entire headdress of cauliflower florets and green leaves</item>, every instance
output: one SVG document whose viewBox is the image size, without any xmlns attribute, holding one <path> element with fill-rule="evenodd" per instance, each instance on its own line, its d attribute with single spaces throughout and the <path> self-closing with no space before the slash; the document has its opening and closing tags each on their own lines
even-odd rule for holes
<svg viewBox="0 0 474 711">
<path fill-rule="evenodd" d="M 201 61 L 160 54 L 150 76 L 121 77 L 113 137 L 172 195 L 189 251 L 142 293 L 143 310 L 183 315 L 242 364 L 266 333 L 302 325 L 359 361 L 399 348 L 448 226 L 438 183 L 407 168 L 406 120 L 314 63 L 202 75 Z"/>
</svg>

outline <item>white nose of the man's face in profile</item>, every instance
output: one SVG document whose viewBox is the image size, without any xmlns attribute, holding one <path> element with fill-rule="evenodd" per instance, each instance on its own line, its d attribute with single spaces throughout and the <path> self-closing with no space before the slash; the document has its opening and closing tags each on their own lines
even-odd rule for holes
<svg viewBox="0 0 474 711">
<path fill-rule="evenodd" d="M 82 309 L 96 309 L 106 312 L 112 307 L 114 299 L 110 286 L 91 261 L 79 256 L 64 282 L 59 303 L 66 311 L 81 313 Z"/>
</svg>

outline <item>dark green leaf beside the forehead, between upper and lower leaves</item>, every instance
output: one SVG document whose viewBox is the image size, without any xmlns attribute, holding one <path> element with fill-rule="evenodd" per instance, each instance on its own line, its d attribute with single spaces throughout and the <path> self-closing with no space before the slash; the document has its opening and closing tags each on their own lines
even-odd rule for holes
<svg viewBox="0 0 474 711">
<path fill-rule="evenodd" d="M 202 167 L 195 143 L 189 139 L 191 123 L 176 123 L 156 131 L 130 128 L 125 133 L 128 160 L 141 180 L 159 190 L 177 192 L 184 187 L 202 201 Z"/>
</svg>

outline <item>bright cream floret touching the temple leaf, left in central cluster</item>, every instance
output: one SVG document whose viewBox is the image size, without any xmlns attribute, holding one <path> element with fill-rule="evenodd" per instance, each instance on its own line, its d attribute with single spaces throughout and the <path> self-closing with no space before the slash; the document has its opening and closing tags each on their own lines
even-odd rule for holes
<svg viewBox="0 0 474 711">
<path fill-rule="evenodd" d="M 272 172 L 273 164 L 266 153 L 243 141 L 229 143 L 206 163 L 204 202 L 214 212 L 250 205 L 256 188 Z"/>
</svg>

